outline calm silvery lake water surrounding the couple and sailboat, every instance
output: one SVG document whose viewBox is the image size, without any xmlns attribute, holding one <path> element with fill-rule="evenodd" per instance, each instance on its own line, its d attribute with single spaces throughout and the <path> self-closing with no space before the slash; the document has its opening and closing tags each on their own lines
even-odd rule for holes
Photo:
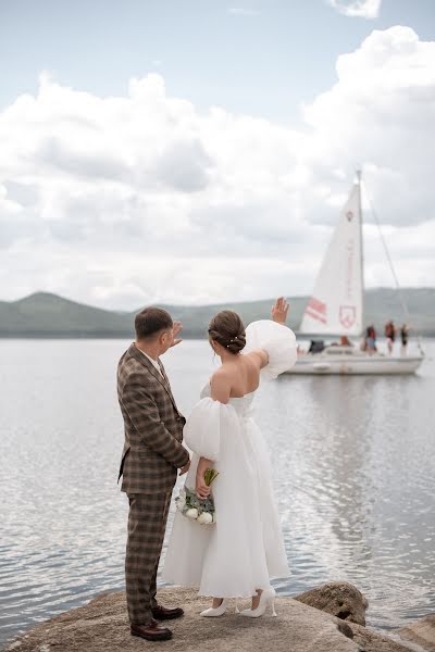
<svg viewBox="0 0 435 652">
<path fill-rule="evenodd" d="M 123 340 L 0 340 L 0 642 L 124 586 L 116 486 Z M 425 344 L 435 356 L 435 341 Z M 207 342 L 164 356 L 188 414 L 216 365 Z M 283 376 L 257 397 L 295 595 L 348 580 L 368 624 L 435 611 L 435 363 L 408 377 Z M 173 516 L 173 514 L 172 514 Z"/>
</svg>

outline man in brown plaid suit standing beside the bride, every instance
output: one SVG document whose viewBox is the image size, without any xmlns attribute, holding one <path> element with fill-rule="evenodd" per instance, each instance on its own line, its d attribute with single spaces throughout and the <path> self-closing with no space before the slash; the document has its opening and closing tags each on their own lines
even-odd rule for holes
<svg viewBox="0 0 435 652">
<path fill-rule="evenodd" d="M 117 397 L 124 417 L 121 490 L 129 502 L 125 585 L 133 636 L 167 640 L 172 631 L 157 620 L 183 616 L 182 609 L 158 604 L 157 570 L 177 468 L 188 471 L 183 447 L 186 423 L 172 396 L 159 360 L 176 339 L 179 323 L 159 308 L 146 308 L 135 318 L 136 341 L 117 366 Z"/>
</svg>

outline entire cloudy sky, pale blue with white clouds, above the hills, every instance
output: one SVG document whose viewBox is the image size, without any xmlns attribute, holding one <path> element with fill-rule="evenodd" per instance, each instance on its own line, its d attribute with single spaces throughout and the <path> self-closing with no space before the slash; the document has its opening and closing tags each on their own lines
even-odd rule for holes
<svg viewBox="0 0 435 652">
<path fill-rule="evenodd" d="M 0 0 L 0 299 L 310 293 L 361 165 L 435 285 L 433 0 Z"/>
</svg>

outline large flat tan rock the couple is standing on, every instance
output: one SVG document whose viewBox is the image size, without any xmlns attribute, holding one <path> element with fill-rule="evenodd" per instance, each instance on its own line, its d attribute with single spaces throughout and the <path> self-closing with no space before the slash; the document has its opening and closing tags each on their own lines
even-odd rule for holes
<svg viewBox="0 0 435 652">
<path fill-rule="evenodd" d="M 172 641 L 160 642 L 159 649 L 179 652 L 360 652 L 361 648 L 338 629 L 347 625 L 291 598 L 276 602 L 277 618 L 245 618 L 234 604 L 221 618 L 201 618 L 198 613 L 209 600 L 197 598 L 196 591 L 162 589 L 159 597 L 165 605 L 185 609 L 185 617 L 171 623 Z M 241 606 L 240 601 L 240 606 Z M 245 601 L 244 606 L 248 602 Z M 350 630 L 347 634 L 351 636 Z M 129 635 L 125 594 L 109 593 L 91 600 L 38 625 L 11 643 L 13 652 L 128 652 L 156 647 Z"/>
</svg>

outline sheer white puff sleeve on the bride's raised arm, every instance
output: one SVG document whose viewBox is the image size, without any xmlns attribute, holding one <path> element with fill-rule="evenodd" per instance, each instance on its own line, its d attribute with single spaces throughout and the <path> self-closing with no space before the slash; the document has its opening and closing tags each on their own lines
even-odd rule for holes
<svg viewBox="0 0 435 652">
<path fill-rule="evenodd" d="M 246 329 L 245 353 L 262 349 L 269 355 L 269 363 L 261 369 L 261 380 L 272 380 L 291 368 L 297 359 L 297 344 L 294 331 L 272 319 L 252 322 Z"/>
</svg>

